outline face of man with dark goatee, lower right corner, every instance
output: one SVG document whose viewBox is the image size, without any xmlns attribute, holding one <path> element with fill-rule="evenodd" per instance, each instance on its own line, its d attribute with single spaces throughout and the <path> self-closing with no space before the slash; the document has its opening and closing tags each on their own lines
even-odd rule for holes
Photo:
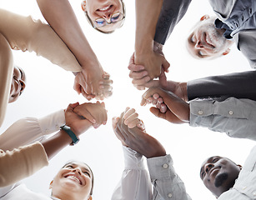
<svg viewBox="0 0 256 200">
<path fill-rule="evenodd" d="M 200 178 L 206 188 L 218 198 L 222 193 L 233 188 L 240 170 L 241 167 L 228 158 L 215 156 L 203 162 Z"/>
</svg>

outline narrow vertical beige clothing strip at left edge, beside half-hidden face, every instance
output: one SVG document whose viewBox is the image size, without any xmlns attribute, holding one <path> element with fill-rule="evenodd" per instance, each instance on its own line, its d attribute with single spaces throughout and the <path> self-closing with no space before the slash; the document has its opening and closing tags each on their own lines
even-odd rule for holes
<svg viewBox="0 0 256 200">
<path fill-rule="evenodd" d="M 13 53 L 0 33 L 0 127 L 3 123 L 13 78 Z"/>
</svg>

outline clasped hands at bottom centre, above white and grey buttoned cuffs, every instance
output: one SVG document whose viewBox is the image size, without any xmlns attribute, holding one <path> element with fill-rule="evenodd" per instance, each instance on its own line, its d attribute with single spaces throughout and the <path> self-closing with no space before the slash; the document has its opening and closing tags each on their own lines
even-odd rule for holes
<svg viewBox="0 0 256 200">
<path fill-rule="evenodd" d="M 145 132 L 143 122 L 138 120 L 138 114 L 135 113 L 134 109 L 127 108 L 120 117 L 113 119 L 113 130 L 117 138 L 121 140 L 125 146 L 141 153 L 146 158 L 165 156 L 166 152 L 162 144 Z M 131 126 L 133 128 L 128 128 L 126 124 L 132 122 L 128 120 L 129 117 L 138 122 L 136 127 L 134 127 L 135 123 L 133 123 L 133 126 Z"/>
</svg>

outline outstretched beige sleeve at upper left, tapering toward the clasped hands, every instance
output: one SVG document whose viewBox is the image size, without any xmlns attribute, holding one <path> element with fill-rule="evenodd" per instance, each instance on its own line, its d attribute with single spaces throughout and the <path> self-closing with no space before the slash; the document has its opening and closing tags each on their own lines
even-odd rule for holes
<svg viewBox="0 0 256 200">
<path fill-rule="evenodd" d="M 81 71 L 73 53 L 47 24 L 3 9 L 0 9 L 0 18 L 5 19 L 0 23 L 0 32 L 13 49 L 36 52 L 65 70 Z"/>
</svg>

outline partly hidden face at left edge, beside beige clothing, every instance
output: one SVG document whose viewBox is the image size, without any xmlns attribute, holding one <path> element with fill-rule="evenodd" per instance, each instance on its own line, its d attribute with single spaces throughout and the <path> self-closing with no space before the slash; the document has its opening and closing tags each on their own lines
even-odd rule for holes
<svg viewBox="0 0 256 200">
<path fill-rule="evenodd" d="M 26 87 L 25 72 L 20 67 L 13 68 L 13 79 L 8 102 L 15 102 Z"/>
</svg>

